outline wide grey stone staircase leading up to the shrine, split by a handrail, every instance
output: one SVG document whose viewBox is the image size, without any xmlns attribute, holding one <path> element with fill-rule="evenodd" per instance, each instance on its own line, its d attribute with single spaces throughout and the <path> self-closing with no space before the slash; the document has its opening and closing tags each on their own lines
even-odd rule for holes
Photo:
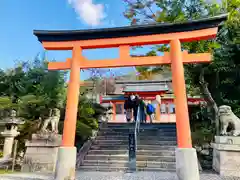
<svg viewBox="0 0 240 180">
<path fill-rule="evenodd" d="M 128 134 L 134 126 L 108 123 L 79 170 L 128 171 Z M 175 124 L 141 124 L 137 145 L 138 171 L 175 171 Z"/>
</svg>

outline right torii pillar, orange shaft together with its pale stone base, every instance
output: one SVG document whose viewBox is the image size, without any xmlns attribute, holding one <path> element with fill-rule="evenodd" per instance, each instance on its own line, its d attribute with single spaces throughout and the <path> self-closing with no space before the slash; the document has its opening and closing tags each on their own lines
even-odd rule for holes
<svg viewBox="0 0 240 180">
<path fill-rule="evenodd" d="M 178 143 L 176 172 L 179 180 L 199 180 L 197 153 L 192 148 L 181 43 L 178 39 L 170 42 L 170 56 Z"/>
</svg>

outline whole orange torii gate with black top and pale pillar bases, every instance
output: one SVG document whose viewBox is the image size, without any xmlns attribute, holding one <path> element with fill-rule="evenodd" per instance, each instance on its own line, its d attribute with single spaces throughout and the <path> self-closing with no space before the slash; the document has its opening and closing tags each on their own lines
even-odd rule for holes
<svg viewBox="0 0 240 180">
<path fill-rule="evenodd" d="M 182 52 L 181 43 L 215 38 L 218 26 L 226 18 L 227 15 L 220 15 L 177 24 L 163 23 L 79 31 L 34 31 L 45 49 L 72 50 L 72 58 L 67 59 L 66 62 L 50 62 L 48 65 L 49 70 L 70 70 L 62 147 L 58 151 L 56 179 L 69 176 L 74 178 L 75 176 L 76 148 L 74 142 L 80 69 L 171 64 L 176 105 L 177 174 L 181 180 L 198 180 L 198 163 L 196 151 L 192 148 L 183 63 L 209 62 L 211 55 Z M 155 57 L 130 56 L 131 46 L 154 44 L 170 44 L 170 52 L 164 53 L 164 56 Z M 82 55 L 83 49 L 112 47 L 119 48 L 119 58 L 94 61 Z"/>
</svg>

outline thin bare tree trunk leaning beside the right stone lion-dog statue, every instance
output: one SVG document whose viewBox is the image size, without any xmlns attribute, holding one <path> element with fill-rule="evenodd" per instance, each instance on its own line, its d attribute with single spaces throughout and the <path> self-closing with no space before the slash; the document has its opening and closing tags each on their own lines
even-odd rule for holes
<svg viewBox="0 0 240 180">
<path fill-rule="evenodd" d="M 217 103 L 214 101 L 209 89 L 208 89 L 208 83 L 204 79 L 205 70 L 204 68 L 201 68 L 201 73 L 199 75 L 199 83 L 201 85 L 201 88 L 203 90 L 204 96 L 207 99 L 207 103 L 210 105 L 210 107 L 214 111 L 214 121 L 215 121 L 215 128 L 216 128 L 216 135 L 219 135 L 219 117 L 218 117 L 218 106 Z"/>
</svg>

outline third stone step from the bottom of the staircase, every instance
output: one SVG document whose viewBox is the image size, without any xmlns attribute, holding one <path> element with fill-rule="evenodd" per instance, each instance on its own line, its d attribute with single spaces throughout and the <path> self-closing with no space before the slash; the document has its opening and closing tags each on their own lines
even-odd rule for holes
<svg viewBox="0 0 240 180">
<path fill-rule="evenodd" d="M 85 156 L 86 160 L 125 160 L 128 161 L 128 154 L 119 155 L 94 155 L 88 154 Z M 175 162 L 175 156 L 149 156 L 149 155 L 138 155 L 137 160 L 139 161 L 159 161 L 159 162 Z"/>
</svg>

